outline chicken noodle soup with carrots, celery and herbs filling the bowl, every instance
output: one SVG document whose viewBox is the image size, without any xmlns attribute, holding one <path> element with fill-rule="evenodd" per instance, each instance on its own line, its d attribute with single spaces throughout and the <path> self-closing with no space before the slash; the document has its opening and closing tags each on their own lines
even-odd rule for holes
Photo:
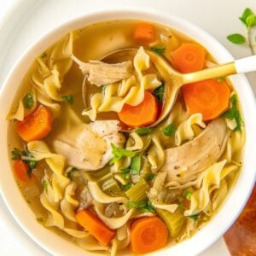
<svg viewBox="0 0 256 256">
<path fill-rule="evenodd" d="M 108 57 L 124 48 L 135 54 Z M 244 124 L 229 79 L 184 85 L 151 127 L 170 81 L 148 50 L 182 73 L 216 65 L 169 27 L 97 23 L 38 56 L 8 116 L 11 165 L 35 218 L 91 252 L 151 253 L 188 239 L 241 169 Z"/>
</svg>

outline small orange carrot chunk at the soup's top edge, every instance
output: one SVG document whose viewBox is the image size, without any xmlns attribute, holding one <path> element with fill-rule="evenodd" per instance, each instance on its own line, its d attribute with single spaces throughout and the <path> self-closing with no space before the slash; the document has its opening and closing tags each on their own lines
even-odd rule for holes
<svg viewBox="0 0 256 256">
<path fill-rule="evenodd" d="M 133 38 L 137 43 L 151 43 L 155 38 L 154 26 L 150 23 L 139 23 L 134 29 Z"/>
</svg>

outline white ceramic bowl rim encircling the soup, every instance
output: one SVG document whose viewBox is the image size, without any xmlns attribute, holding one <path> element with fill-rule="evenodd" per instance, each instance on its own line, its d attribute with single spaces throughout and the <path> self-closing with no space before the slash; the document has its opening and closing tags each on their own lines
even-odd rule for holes
<svg viewBox="0 0 256 256">
<path fill-rule="evenodd" d="M 207 50 L 216 58 L 219 63 L 233 61 L 230 53 L 218 43 L 218 41 L 201 28 L 191 24 L 186 20 L 177 17 L 163 15 L 152 9 L 111 9 L 102 10 L 95 13 L 86 13 L 78 18 L 67 21 L 62 26 L 56 27 L 48 32 L 44 37 L 39 38 L 35 44 L 26 50 L 26 53 L 20 57 L 15 67 L 9 73 L 8 78 L 3 84 L 0 96 L 0 141 L 1 154 L 0 166 L 1 178 L 0 189 L 3 200 L 9 207 L 15 220 L 20 224 L 22 229 L 46 251 L 54 255 L 76 255 L 84 256 L 86 252 L 81 248 L 73 245 L 72 242 L 66 241 L 61 236 L 57 236 L 54 232 L 44 229 L 35 219 L 35 216 L 27 206 L 26 201 L 20 194 L 20 190 L 15 183 L 15 179 L 11 172 L 11 166 L 8 158 L 8 122 L 6 120 L 7 113 L 11 103 L 15 97 L 16 90 L 20 86 L 20 81 L 26 74 L 28 68 L 32 65 L 35 57 L 54 44 L 58 39 L 67 32 L 89 25 L 91 23 L 102 20 L 121 20 L 121 19 L 137 19 L 137 20 L 153 20 L 166 26 L 175 28 L 176 30 L 187 34 L 190 38 L 194 38 L 200 44 L 204 45 Z M 231 78 L 236 90 L 240 96 L 241 108 L 244 114 L 246 124 L 246 146 L 244 153 L 244 164 L 241 174 L 236 182 L 235 188 L 232 190 L 224 207 L 218 212 L 215 218 L 209 222 L 206 227 L 197 232 L 195 236 L 187 241 L 177 244 L 174 247 L 166 248 L 154 255 L 196 255 L 201 253 L 213 242 L 217 241 L 220 236 L 229 229 L 230 225 L 238 217 L 241 209 L 244 207 L 250 192 L 255 183 L 255 166 L 256 166 L 256 104 L 253 96 L 253 90 L 248 84 L 244 75 L 236 75 Z M 88 253 L 89 254 L 89 253 Z M 96 254 L 94 254 L 96 255 Z"/>
</svg>

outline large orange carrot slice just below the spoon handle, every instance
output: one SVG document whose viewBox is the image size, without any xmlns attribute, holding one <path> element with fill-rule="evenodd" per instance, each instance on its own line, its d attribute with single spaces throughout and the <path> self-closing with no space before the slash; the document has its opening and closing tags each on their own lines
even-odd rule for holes
<svg viewBox="0 0 256 256">
<path fill-rule="evenodd" d="M 230 87 L 214 79 L 186 84 L 182 88 L 189 113 L 201 113 L 205 121 L 217 118 L 228 107 Z"/>
</svg>

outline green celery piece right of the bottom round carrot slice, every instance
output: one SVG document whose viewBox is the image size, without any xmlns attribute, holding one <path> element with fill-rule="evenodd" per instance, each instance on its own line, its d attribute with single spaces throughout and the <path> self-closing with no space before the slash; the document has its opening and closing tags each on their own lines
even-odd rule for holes
<svg viewBox="0 0 256 256">
<path fill-rule="evenodd" d="M 155 209 L 160 218 L 166 223 L 171 237 L 177 237 L 184 228 L 187 218 L 183 216 L 183 211 L 177 209 L 176 212 L 168 212 L 163 209 Z"/>
</svg>

